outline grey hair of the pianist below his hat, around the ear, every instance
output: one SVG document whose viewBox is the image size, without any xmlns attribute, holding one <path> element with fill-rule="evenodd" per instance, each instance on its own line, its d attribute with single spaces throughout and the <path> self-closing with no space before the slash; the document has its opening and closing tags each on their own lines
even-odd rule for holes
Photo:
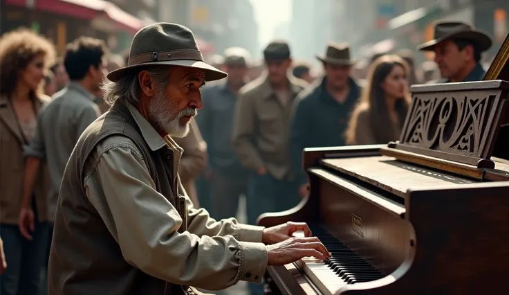
<svg viewBox="0 0 509 295">
<path fill-rule="evenodd" d="M 154 82 L 158 85 L 156 91 L 163 91 L 169 80 L 169 66 L 151 66 L 144 70 L 149 71 Z M 102 91 L 103 100 L 108 105 L 113 105 L 116 100 L 130 102 L 131 105 L 138 105 L 141 96 L 140 83 L 138 82 L 138 71 L 127 71 L 124 77 L 117 82 L 104 80 Z"/>
</svg>

